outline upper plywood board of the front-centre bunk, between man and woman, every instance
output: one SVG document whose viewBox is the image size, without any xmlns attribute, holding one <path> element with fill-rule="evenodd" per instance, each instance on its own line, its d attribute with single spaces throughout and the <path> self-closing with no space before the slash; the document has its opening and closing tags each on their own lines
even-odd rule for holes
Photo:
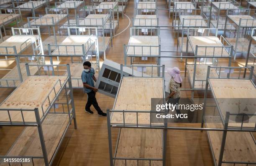
<svg viewBox="0 0 256 166">
<path fill-rule="evenodd" d="M 125 77 L 114 110 L 150 111 L 151 98 L 163 98 L 163 88 L 163 78 Z M 123 123 L 123 113 L 113 113 L 111 123 Z M 125 123 L 136 124 L 136 113 L 125 113 Z M 150 113 L 138 113 L 138 123 L 149 124 Z"/>
</svg>

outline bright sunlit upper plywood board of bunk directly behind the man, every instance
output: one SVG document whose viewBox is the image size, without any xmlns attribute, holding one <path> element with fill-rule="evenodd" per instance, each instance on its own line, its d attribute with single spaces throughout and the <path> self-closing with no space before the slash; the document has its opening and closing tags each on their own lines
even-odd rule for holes
<svg viewBox="0 0 256 166">
<path fill-rule="evenodd" d="M 91 46 L 91 45 L 89 45 L 89 47 L 87 46 L 86 42 L 88 40 L 90 40 L 90 35 L 69 35 L 60 44 L 60 45 L 70 45 L 70 46 L 67 46 L 67 50 L 66 50 L 66 47 L 60 46 L 59 49 L 56 48 L 56 50 L 54 50 L 51 54 L 52 55 L 59 55 L 59 54 L 73 55 L 74 53 L 76 53 L 76 55 L 82 55 L 83 53 L 82 45 L 84 44 L 85 50 L 89 49 L 89 47 Z M 76 46 L 74 48 L 73 45 L 79 45 L 79 46 Z"/>
</svg>

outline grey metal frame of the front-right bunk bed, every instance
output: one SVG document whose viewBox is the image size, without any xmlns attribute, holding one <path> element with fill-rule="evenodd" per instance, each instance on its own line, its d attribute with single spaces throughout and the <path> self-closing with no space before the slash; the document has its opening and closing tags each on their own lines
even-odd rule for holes
<svg viewBox="0 0 256 166">
<path fill-rule="evenodd" d="M 210 86 L 210 89 L 212 88 L 212 85 L 210 84 L 210 81 L 209 79 L 211 78 L 210 77 L 210 69 L 213 68 L 214 70 L 217 71 L 218 73 L 218 78 L 221 78 L 221 79 L 247 79 L 247 80 L 251 80 L 252 79 L 252 75 L 253 75 L 253 67 L 251 68 L 248 68 L 248 67 L 211 67 L 211 66 L 208 66 L 207 68 L 207 80 L 206 80 L 206 85 L 205 85 L 205 96 L 204 96 L 204 104 L 203 104 L 203 114 L 202 114 L 202 123 L 201 123 L 201 128 L 203 128 L 203 125 L 204 123 L 206 123 L 206 119 L 205 119 L 205 110 L 206 110 L 206 107 L 207 107 L 207 91 L 208 91 L 208 86 Z M 221 76 L 220 73 L 223 72 L 223 70 L 228 70 L 228 73 L 226 76 Z M 237 69 L 239 70 L 239 75 L 237 78 L 230 78 L 230 74 L 232 73 L 232 70 L 234 69 Z M 249 73 L 249 76 L 248 78 L 244 78 L 242 75 L 243 71 L 242 70 L 246 70 L 246 69 L 250 69 L 250 73 Z M 253 81 L 251 80 L 251 83 L 254 85 L 254 87 L 256 88 L 255 84 L 253 83 Z M 224 148 L 225 148 L 225 142 L 228 141 L 226 140 L 226 136 L 227 136 L 227 132 L 228 131 L 240 131 L 240 132 L 255 132 L 256 131 L 256 128 L 255 127 L 243 127 L 243 121 L 246 121 L 244 119 L 242 119 L 242 122 L 241 122 L 241 126 L 240 127 L 233 127 L 233 126 L 228 126 L 228 123 L 229 123 L 229 119 L 230 119 L 230 116 L 245 116 L 244 113 L 230 113 L 230 112 L 226 112 L 225 114 L 225 118 L 222 116 L 222 113 L 221 113 L 221 109 L 219 107 L 219 104 L 218 104 L 218 101 L 217 101 L 217 98 L 215 97 L 215 94 L 212 93 L 213 95 L 213 98 L 214 98 L 214 101 L 215 101 L 215 104 L 216 104 L 216 108 L 218 108 L 218 112 L 219 112 L 219 115 L 220 116 L 220 119 L 221 119 L 221 123 L 223 124 L 223 136 L 222 136 L 222 141 L 221 141 L 221 146 L 220 146 L 220 155 L 219 155 L 219 161 L 218 163 L 216 162 L 215 160 L 215 156 L 214 156 L 214 152 L 213 152 L 213 149 L 212 149 L 212 146 L 211 146 L 211 142 L 210 142 L 210 136 L 209 136 L 209 133 L 207 132 L 207 136 L 208 136 L 208 141 L 210 143 L 210 150 L 211 150 L 211 153 L 212 153 L 212 157 L 213 157 L 213 160 L 214 160 L 214 164 L 215 166 L 221 166 L 222 163 L 232 163 L 234 166 L 236 164 L 246 164 L 246 165 L 250 165 L 250 164 L 256 164 L 255 162 L 241 162 L 241 161 L 223 161 L 223 154 L 224 154 Z M 256 116 L 256 114 L 248 114 L 248 116 Z M 256 123 L 255 123 L 256 125 Z M 217 129 L 217 128 L 216 128 Z M 207 130 L 207 131 L 210 131 L 210 130 Z M 225 153 L 228 153 L 227 151 Z"/>
</svg>

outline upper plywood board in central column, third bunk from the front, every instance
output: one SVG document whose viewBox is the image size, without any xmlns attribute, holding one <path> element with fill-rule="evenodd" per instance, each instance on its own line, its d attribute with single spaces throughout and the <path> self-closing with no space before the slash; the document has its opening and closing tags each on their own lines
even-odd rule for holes
<svg viewBox="0 0 256 166">
<path fill-rule="evenodd" d="M 157 15 L 136 15 L 133 21 L 134 26 L 157 26 Z"/>
</svg>

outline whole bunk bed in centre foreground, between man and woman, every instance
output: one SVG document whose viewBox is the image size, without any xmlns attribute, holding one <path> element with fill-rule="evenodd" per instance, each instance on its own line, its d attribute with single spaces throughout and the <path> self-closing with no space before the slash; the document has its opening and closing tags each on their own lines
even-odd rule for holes
<svg viewBox="0 0 256 166">
<path fill-rule="evenodd" d="M 121 75 L 122 73 L 121 69 Z M 129 90 L 131 86 L 134 87 L 133 91 Z M 141 89 L 142 86 L 145 88 Z M 110 165 L 163 165 L 164 133 L 161 129 L 149 127 L 149 125 L 163 126 L 163 123 L 152 123 L 149 112 L 151 98 L 165 98 L 164 96 L 163 77 L 121 77 L 113 110 L 107 111 Z M 143 125 L 145 128 L 136 128 L 138 125 Z M 132 127 L 122 128 L 125 126 Z M 112 155 L 111 127 L 120 128 L 114 155 Z"/>
</svg>

